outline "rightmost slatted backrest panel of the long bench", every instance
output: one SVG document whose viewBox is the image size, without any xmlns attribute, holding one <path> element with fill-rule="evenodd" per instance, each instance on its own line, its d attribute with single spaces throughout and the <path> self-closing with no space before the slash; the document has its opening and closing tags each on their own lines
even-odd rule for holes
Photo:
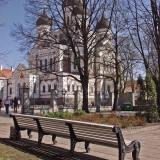
<svg viewBox="0 0 160 160">
<path fill-rule="evenodd" d="M 118 147 L 116 134 L 113 132 L 113 125 L 104 125 L 97 123 L 68 121 L 73 127 L 74 133 L 78 139 L 88 140 L 95 144 L 110 145 Z"/>
</svg>

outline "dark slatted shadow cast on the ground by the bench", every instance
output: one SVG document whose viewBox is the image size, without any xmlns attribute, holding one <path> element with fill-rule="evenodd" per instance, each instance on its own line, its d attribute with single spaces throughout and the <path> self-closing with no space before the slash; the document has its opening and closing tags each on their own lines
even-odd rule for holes
<svg viewBox="0 0 160 160">
<path fill-rule="evenodd" d="M 46 145 L 44 143 L 38 148 L 37 142 L 23 138 L 18 141 L 0 138 L 0 143 L 14 147 L 22 152 L 35 155 L 44 160 L 104 160 L 103 158 L 87 155 L 85 152 L 75 152 L 74 157 L 70 157 L 69 150 L 50 144 Z M 105 160 L 107 159 L 105 158 Z"/>
</svg>

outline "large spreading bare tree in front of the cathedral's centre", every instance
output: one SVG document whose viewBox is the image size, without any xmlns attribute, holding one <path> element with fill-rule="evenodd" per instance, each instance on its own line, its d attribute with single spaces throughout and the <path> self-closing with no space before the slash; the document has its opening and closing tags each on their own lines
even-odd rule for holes
<svg viewBox="0 0 160 160">
<path fill-rule="evenodd" d="M 52 44 L 52 48 L 60 50 L 62 54 L 56 56 L 53 65 L 59 63 L 64 54 L 68 55 L 68 58 L 63 59 L 63 62 L 75 64 L 78 68 L 79 78 L 70 73 L 69 70 L 65 76 L 70 76 L 82 84 L 83 110 L 86 112 L 88 112 L 88 83 L 89 78 L 91 78 L 89 63 L 91 57 L 97 54 L 95 48 L 109 34 L 114 5 L 115 0 L 48 0 L 43 16 L 47 16 L 46 12 L 50 15 L 51 19 L 48 24 L 53 23 L 54 34 L 49 34 L 51 29 L 35 34 L 33 21 L 30 21 L 28 28 L 15 24 L 12 31 L 12 36 L 19 40 L 22 51 L 35 47 L 35 45 L 38 48 L 47 44 Z M 43 9 L 43 4 L 39 1 L 29 0 L 26 9 L 32 15 L 32 19 L 35 19 L 41 15 L 39 11 Z M 98 30 L 103 25 L 100 20 L 104 15 L 108 18 L 108 26 L 105 26 L 103 34 L 98 36 Z M 34 66 L 37 67 L 35 63 Z M 58 72 L 49 73 L 60 76 Z"/>
</svg>

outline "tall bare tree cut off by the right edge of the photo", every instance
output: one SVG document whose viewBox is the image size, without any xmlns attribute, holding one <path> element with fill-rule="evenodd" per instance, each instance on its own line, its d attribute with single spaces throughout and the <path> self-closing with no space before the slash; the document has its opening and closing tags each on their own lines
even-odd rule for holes
<svg viewBox="0 0 160 160">
<path fill-rule="evenodd" d="M 156 85 L 157 105 L 160 113 L 160 12 L 159 1 L 128 1 L 131 20 L 128 29 L 140 53 L 145 69 Z"/>
</svg>

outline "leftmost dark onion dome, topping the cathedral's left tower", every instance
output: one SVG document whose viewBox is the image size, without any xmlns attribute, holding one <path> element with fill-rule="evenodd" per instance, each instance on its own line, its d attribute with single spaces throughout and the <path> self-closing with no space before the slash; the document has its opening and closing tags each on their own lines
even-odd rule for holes
<svg viewBox="0 0 160 160">
<path fill-rule="evenodd" d="M 52 26 L 52 20 L 47 16 L 46 9 L 44 8 L 43 14 L 38 18 L 36 26 L 49 25 Z"/>
</svg>

